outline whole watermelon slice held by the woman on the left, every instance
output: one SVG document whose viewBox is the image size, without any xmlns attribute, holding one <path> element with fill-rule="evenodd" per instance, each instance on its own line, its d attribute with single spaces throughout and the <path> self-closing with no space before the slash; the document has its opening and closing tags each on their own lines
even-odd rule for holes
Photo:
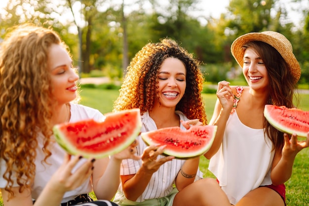
<svg viewBox="0 0 309 206">
<path fill-rule="evenodd" d="M 69 154 L 103 158 L 128 147 L 141 132 L 140 109 L 105 114 L 102 121 L 86 119 L 53 127 L 56 141 Z"/>
</svg>

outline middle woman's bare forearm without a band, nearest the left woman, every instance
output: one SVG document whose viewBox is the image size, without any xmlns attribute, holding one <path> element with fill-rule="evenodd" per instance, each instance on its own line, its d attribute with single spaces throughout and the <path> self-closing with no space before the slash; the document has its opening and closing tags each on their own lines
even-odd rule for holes
<svg viewBox="0 0 309 206">
<path fill-rule="evenodd" d="M 151 177 L 152 174 L 146 172 L 142 166 L 132 178 L 122 182 L 125 197 L 128 200 L 136 201 L 145 191 Z"/>
</svg>

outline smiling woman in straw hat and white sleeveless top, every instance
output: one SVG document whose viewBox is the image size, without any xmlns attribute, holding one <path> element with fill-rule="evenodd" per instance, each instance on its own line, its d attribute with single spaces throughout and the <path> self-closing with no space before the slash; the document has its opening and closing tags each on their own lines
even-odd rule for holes
<svg viewBox="0 0 309 206">
<path fill-rule="evenodd" d="M 248 86 L 218 83 L 210 124 L 218 125 L 222 143 L 209 170 L 209 201 L 220 206 L 284 206 L 285 186 L 296 154 L 309 146 L 278 132 L 263 115 L 266 104 L 294 107 L 293 96 L 301 70 L 291 43 L 276 32 L 249 33 L 232 43 L 232 55 L 242 67 Z M 211 205 L 211 204 L 208 204 Z"/>
</svg>

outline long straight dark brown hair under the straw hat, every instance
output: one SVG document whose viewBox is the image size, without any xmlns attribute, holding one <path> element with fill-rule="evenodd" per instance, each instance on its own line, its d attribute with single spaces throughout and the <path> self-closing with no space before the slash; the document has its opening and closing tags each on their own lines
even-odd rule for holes
<svg viewBox="0 0 309 206">
<path fill-rule="evenodd" d="M 295 107 L 299 98 L 295 93 L 296 85 L 290 68 L 279 52 L 269 44 L 262 41 L 251 41 L 243 45 L 242 49 L 252 48 L 263 60 L 268 72 L 270 98 L 266 104 Z M 293 99 L 295 97 L 295 99 Z M 284 144 L 283 133 L 272 127 L 264 118 L 265 134 L 270 138 L 275 149 L 282 149 Z"/>
</svg>

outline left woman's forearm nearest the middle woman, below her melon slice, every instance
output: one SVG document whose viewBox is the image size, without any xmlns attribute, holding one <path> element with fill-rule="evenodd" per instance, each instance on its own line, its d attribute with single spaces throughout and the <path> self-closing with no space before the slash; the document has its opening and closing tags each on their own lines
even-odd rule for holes
<svg viewBox="0 0 309 206">
<path fill-rule="evenodd" d="M 93 181 L 93 191 L 98 199 L 111 200 L 118 189 L 121 160 L 111 157 L 104 174 Z"/>
</svg>

